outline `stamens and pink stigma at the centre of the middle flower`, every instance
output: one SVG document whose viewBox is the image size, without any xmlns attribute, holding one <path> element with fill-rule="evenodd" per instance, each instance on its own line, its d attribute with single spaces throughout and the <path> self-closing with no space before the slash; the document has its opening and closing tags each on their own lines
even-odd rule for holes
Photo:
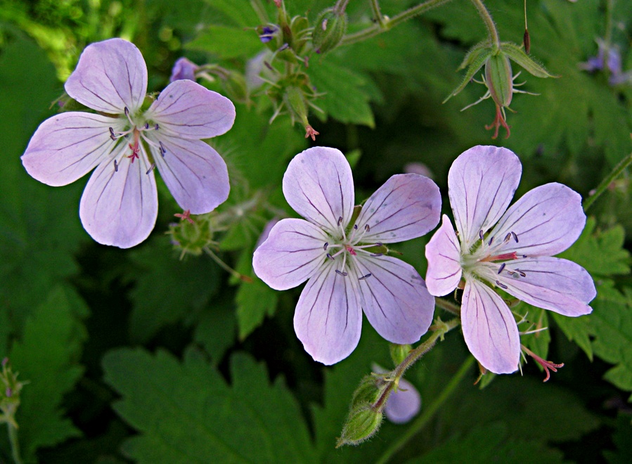
<svg viewBox="0 0 632 464">
<path fill-rule="evenodd" d="M 335 231 L 337 236 L 332 237 L 332 242 L 325 242 L 323 250 L 325 250 L 325 256 L 328 259 L 337 261 L 340 266 L 335 269 L 336 273 L 340 276 L 347 277 L 349 275 L 349 269 L 355 268 L 358 270 L 357 274 L 360 275 L 359 280 L 369 278 L 370 272 L 361 271 L 359 265 L 359 259 L 363 256 L 382 256 L 382 253 L 375 253 L 375 250 L 368 250 L 369 248 L 382 247 L 382 243 L 362 243 L 363 237 L 370 231 L 368 224 L 363 227 L 359 227 L 358 224 L 354 224 L 348 231 L 345 230 L 345 226 L 342 224 L 342 217 L 338 218 L 337 230 Z M 342 258 L 342 259 L 340 259 Z"/>
</svg>

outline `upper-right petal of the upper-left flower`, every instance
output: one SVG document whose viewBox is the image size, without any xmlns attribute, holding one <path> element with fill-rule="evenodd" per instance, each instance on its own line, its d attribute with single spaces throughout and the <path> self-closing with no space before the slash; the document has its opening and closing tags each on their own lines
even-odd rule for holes
<svg viewBox="0 0 632 464">
<path fill-rule="evenodd" d="M 235 122 L 235 105 L 200 84 L 179 80 L 160 92 L 145 114 L 158 131 L 183 138 L 210 138 L 224 134 Z"/>
</svg>

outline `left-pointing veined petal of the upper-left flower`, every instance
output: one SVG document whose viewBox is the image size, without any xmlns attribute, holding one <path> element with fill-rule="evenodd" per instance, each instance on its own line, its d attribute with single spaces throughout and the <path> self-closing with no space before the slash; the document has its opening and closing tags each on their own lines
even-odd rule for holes
<svg viewBox="0 0 632 464">
<path fill-rule="evenodd" d="M 22 164 L 49 186 L 65 186 L 101 162 L 110 162 L 117 141 L 110 127 L 121 131 L 122 120 L 89 112 L 63 112 L 42 122 L 31 137 Z"/>
</svg>

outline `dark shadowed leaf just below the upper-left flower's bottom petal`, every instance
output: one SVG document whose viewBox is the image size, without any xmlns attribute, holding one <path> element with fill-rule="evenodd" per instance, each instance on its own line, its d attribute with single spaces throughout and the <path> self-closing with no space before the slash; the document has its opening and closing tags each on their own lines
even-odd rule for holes
<svg viewBox="0 0 632 464">
<path fill-rule="evenodd" d="M 204 307 L 219 288 L 219 271 L 209 257 L 178 259 L 166 236 L 152 238 L 130 252 L 135 264 L 126 273 L 134 309 L 131 337 L 146 342 L 158 330 Z"/>
</svg>

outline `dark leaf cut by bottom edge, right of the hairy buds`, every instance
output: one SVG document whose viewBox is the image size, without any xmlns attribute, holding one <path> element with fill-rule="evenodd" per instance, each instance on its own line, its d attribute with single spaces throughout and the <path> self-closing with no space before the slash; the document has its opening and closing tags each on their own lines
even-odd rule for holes
<svg viewBox="0 0 632 464">
<path fill-rule="evenodd" d="M 481 463 L 494 462 L 502 456 L 503 463 L 562 463 L 564 454 L 550 449 L 544 442 L 515 439 L 502 423 L 477 427 L 465 437 L 453 437 L 444 444 L 411 459 L 413 463 Z"/>
</svg>

